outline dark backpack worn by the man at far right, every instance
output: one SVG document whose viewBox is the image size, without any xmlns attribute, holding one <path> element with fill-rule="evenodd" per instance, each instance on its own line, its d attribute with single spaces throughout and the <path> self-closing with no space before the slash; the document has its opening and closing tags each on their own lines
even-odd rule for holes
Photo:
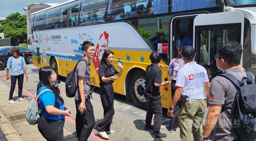
<svg viewBox="0 0 256 141">
<path fill-rule="evenodd" d="M 231 121 L 232 129 L 243 141 L 256 139 L 256 85 L 252 74 L 246 72 L 247 78 L 240 81 L 230 73 L 222 73 L 222 76 L 230 80 L 238 89 L 236 93 L 237 105 L 233 117 L 222 107 L 222 112 Z M 247 85 L 245 85 L 245 82 Z"/>
</svg>

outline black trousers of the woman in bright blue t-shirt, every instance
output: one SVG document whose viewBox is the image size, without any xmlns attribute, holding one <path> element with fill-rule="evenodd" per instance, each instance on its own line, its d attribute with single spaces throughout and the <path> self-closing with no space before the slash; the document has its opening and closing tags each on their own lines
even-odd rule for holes
<svg viewBox="0 0 256 141">
<path fill-rule="evenodd" d="M 64 141 L 63 127 L 65 118 L 52 120 L 41 116 L 37 128 L 47 141 Z"/>
</svg>

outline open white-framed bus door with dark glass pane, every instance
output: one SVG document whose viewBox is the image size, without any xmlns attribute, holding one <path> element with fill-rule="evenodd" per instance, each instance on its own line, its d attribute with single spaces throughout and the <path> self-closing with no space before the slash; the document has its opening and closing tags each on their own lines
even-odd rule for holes
<svg viewBox="0 0 256 141">
<path fill-rule="evenodd" d="M 195 61 L 207 70 L 211 82 L 212 78 L 222 73 L 217 68 L 216 50 L 220 44 L 227 41 L 237 41 L 243 45 L 244 15 L 240 11 L 229 11 L 198 15 L 194 19 L 194 43 L 196 50 Z M 242 65 L 242 60 L 241 60 Z M 204 96 L 206 96 L 204 92 Z M 204 117 L 206 117 L 206 108 Z"/>
</svg>

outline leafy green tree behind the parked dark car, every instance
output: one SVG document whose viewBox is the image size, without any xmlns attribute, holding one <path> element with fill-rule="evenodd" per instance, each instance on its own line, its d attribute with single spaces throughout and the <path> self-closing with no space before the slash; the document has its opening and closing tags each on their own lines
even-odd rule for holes
<svg viewBox="0 0 256 141">
<path fill-rule="evenodd" d="M 26 15 L 21 15 L 19 12 L 12 13 L 0 24 L 0 33 L 4 33 L 5 38 L 11 38 L 13 46 L 25 43 L 27 40 Z"/>
</svg>

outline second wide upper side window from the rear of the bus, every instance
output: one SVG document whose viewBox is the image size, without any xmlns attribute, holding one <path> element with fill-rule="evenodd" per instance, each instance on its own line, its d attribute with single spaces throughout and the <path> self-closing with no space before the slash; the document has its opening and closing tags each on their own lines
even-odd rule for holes
<svg viewBox="0 0 256 141">
<path fill-rule="evenodd" d="M 45 28 L 58 28 L 60 23 L 60 6 L 46 11 Z"/>
</svg>

